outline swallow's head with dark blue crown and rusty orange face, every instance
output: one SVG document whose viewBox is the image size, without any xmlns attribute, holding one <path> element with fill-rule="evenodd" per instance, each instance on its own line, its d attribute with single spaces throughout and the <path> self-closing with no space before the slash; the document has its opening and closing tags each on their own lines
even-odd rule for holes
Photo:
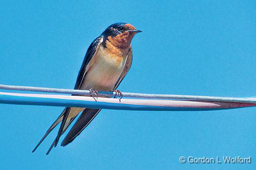
<svg viewBox="0 0 256 170">
<path fill-rule="evenodd" d="M 128 23 L 115 23 L 110 25 L 103 33 L 105 40 L 119 48 L 130 47 L 135 34 L 142 32 Z"/>
</svg>

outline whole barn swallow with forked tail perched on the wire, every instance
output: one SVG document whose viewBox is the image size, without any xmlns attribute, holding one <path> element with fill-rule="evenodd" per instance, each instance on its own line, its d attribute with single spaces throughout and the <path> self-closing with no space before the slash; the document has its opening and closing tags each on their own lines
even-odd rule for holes
<svg viewBox="0 0 256 170">
<path fill-rule="evenodd" d="M 116 88 L 132 65 L 133 52 L 131 41 L 134 35 L 139 32 L 142 31 L 127 23 L 115 23 L 107 27 L 89 46 L 74 89 L 119 91 Z M 64 108 L 61 115 L 48 129 L 32 152 L 61 122 L 58 135 L 47 152 L 49 154 L 53 146 L 57 146 L 60 136 L 81 112 L 79 118 L 62 141 L 61 146 L 71 143 L 92 122 L 100 110 L 79 107 Z"/>
</svg>

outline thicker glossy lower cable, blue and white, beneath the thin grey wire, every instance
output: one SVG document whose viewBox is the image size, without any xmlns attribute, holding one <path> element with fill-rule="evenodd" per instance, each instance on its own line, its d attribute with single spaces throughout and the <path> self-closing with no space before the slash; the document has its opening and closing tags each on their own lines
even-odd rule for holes
<svg viewBox="0 0 256 170">
<path fill-rule="evenodd" d="M 216 101 L 187 101 L 162 99 L 132 99 L 123 98 L 119 102 L 116 98 L 72 96 L 60 94 L 31 94 L 0 92 L 0 103 L 23 105 L 46 105 L 66 107 L 105 108 L 121 110 L 168 110 L 168 111 L 199 111 L 219 110 L 239 107 L 256 106 L 256 103 L 216 102 Z"/>
</svg>

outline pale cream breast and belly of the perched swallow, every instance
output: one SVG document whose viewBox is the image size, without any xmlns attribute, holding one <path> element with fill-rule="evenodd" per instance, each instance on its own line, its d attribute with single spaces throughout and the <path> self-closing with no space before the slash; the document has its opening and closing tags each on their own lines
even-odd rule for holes
<svg viewBox="0 0 256 170">
<path fill-rule="evenodd" d="M 94 63 L 88 70 L 81 89 L 94 88 L 98 91 L 113 90 L 114 85 L 123 71 L 126 56 L 125 59 L 117 59 L 104 51 L 103 47 L 100 47 L 97 51 L 97 55 L 92 60 Z"/>
</svg>

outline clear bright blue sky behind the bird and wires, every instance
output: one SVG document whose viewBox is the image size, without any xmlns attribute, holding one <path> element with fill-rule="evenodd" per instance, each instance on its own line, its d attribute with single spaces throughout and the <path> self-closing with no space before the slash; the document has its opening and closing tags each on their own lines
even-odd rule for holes
<svg viewBox="0 0 256 170">
<path fill-rule="evenodd" d="M 0 83 L 73 88 L 91 41 L 115 22 L 143 30 L 119 90 L 256 95 L 255 1 L 0 2 Z M 256 108 L 102 110 L 79 137 L 35 153 L 62 107 L 0 104 L 1 169 L 255 169 Z M 64 136 L 62 136 L 61 140 Z M 181 164 L 180 156 L 251 156 L 251 164 Z"/>
</svg>

